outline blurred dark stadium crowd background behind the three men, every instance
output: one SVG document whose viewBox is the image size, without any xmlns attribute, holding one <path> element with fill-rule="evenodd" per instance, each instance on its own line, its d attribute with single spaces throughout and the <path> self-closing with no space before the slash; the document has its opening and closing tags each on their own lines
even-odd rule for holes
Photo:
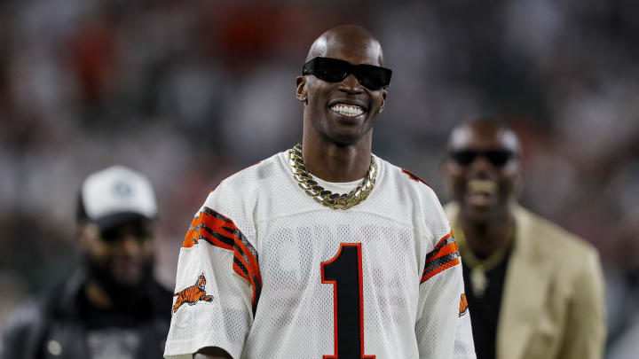
<svg viewBox="0 0 639 359">
<path fill-rule="evenodd" d="M 154 183 L 172 286 L 209 190 L 301 138 L 295 78 L 312 40 L 355 23 L 394 70 L 374 152 L 446 201 L 450 129 L 508 120 L 522 202 L 602 254 L 614 344 L 639 310 L 637 15 L 632 0 L 3 0 L 0 327 L 74 269 L 80 182 L 114 163 Z"/>
</svg>

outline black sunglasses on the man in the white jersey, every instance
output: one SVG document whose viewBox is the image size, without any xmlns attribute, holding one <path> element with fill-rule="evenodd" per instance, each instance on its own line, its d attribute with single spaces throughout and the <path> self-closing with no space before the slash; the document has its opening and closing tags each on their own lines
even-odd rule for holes
<svg viewBox="0 0 639 359">
<path fill-rule="evenodd" d="M 341 82 L 349 74 L 354 74 L 359 83 L 368 90 L 380 90 L 390 84 L 390 68 L 373 65 L 352 65 L 341 59 L 317 57 L 302 67 L 302 74 L 314 74 L 326 82 Z"/>
</svg>

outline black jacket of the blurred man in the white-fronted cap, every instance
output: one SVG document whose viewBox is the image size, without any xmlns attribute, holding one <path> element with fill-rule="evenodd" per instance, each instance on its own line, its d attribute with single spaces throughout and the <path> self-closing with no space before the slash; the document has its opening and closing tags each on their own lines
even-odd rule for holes
<svg viewBox="0 0 639 359">
<path fill-rule="evenodd" d="M 79 298 L 86 276 L 75 273 L 63 285 L 36 300 L 30 300 L 7 321 L 0 359 L 87 359 L 85 318 Z M 153 281 L 148 285 L 147 319 L 135 326 L 139 345 L 135 358 L 162 358 L 170 326 L 172 294 Z"/>
</svg>

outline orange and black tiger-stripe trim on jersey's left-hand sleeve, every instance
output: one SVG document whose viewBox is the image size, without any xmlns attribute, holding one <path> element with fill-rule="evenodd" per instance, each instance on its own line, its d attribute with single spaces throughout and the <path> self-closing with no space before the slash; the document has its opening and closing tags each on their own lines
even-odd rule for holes
<svg viewBox="0 0 639 359">
<path fill-rule="evenodd" d="M 257 264 L 255 247 L 248 242 L 248 238 L 230 218 L 209 207 L 202 207 L 198 215 L 193 218 L 182 246 L 190 248 L 198 245 L 200 240 L 211 246 L 233 251 L 233 270 L 253 289 L 251 304 L 253 315 L 255 315 L 257 300 L 262 292 L 262 275 Z"/>
</svg>

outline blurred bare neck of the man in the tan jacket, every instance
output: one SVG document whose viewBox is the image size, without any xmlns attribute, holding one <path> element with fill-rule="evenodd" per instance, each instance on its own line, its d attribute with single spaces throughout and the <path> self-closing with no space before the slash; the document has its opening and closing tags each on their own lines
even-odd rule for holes
<svg viewBox="0 0 639 359">
<path fill-rule="evenodd" d="M 486 258 L 509 244 L 512 231 L 515 230 L 515 218 L 508 210 L 486 222 L 477 222 L 464 217 L 460 212 L 458 225 L 464 231 L 466 242 L 472 251 L 477 256 Z"/>
</svg>

